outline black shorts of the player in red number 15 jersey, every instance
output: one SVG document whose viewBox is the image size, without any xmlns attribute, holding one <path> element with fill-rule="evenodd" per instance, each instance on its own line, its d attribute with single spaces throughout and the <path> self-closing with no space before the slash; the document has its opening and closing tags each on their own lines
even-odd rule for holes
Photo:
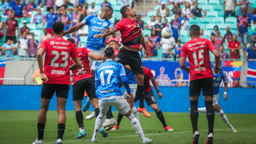
<svg viewBox="0 0 256 144">
<path fill-rule="evenodd" d="M 203 89 L 203 96 L 212 96 L 214 92 L 213 79 L 195 79 L 190 81 L 190 97 L 200 96 L 201 88 Z"/>
</svg>

